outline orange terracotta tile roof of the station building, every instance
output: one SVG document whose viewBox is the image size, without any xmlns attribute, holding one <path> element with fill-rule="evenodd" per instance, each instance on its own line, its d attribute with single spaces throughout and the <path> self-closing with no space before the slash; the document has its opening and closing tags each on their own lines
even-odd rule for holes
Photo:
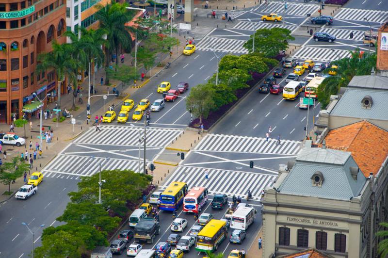
<svg viewBox="0 0 388 258">
<path fill-rule="evenodd" d="M 388 156 L 388 131 L 365 120 L 332 129 L 324 139 L 328 148 L 350 151 L 365 177 L 375 176 Z"/>
</svg>

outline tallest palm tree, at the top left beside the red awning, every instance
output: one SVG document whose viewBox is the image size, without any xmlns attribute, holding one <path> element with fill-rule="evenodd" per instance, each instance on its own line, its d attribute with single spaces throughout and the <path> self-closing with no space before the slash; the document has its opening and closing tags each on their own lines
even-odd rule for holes
<svg viewBox="0 0 388 258">
<path fill-rule="evenodd" d="M 112 2 L 105 6 L 97 5 L 98 12 L 96 18 L 99 20 L 100 28 L 107 34 L 108 44 L 105 45 L 105 66 L 109 66 L 109 61 L 113 52 L 116 54 L 116 65 L 118 65 L 119 49 L 131 49 L 132 38 L 125 23 L 133 17 L 126 7 L 127 3 Z M 108 73 L 105 75 L 105 83 L 109 83 Z"/>
</svg>

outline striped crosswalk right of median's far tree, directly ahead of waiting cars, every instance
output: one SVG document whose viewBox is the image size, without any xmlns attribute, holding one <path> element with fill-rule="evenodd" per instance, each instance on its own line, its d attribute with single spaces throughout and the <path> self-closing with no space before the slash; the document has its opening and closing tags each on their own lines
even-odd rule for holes
<svg viewBox="0 0 388 258">
<path fill-rule="evenodd" d="M 331 48 L 302 47 L 299 48 L 292 57 L 294 59 L 312 59 L 314 61 L 329 62 L 350 56 L 351 53 L 349 50 L 335 49 L 335 51 L 332 51 Z"/>
</svg>

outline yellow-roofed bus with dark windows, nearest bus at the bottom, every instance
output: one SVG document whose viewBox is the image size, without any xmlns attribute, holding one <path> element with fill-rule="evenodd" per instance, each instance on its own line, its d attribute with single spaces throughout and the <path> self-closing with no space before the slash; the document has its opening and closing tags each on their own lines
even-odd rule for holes
<svg viewBox="0 0 388 258">
<path fill-rule="evenodd" d="M 199 252 L 214 252 L 218 245 L 226 238 L 226 222 L 222 220 L 210 220 L 210 222 L 199 231 L 195 240 L 195 250 Z"/>
</svg>

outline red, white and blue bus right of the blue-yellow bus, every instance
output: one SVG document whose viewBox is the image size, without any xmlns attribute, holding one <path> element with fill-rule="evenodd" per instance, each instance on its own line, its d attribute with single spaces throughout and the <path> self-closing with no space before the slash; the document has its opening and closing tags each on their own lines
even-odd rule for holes
<svg viewBox="0 0 388 258">
<path fill-rule="evenodd" d="M 183 199 L 183 211 L 199 213 L 208 202 L 208 190 L 205 187 L 195 186 Z"/>
</svg>

